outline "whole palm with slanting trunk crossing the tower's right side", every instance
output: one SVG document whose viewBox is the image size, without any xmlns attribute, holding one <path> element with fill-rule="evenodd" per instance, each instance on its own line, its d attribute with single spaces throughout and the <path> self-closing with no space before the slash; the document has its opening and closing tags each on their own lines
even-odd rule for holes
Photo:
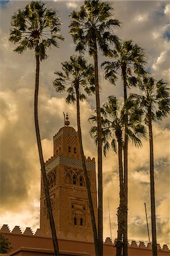
<svg viewBox="0 0 170 256">
<path fill-rule="evenodd" d="M 88 172 L 85 164 L 84 150 L 82 146 L 82 136 L 81 136 L 81 125 L 80 125 L 80 100 L 85 100 L 85 94 L 81 93 L 80 86 L 84 89 L 87 94 L 94 92 L 94 67 L 88 64 L 82 56 L 71 56 L 69 61 L 65 61 L 62 64 L 63 72 L 55 72 L 57 79 L 53 81 L 56 92 L 63 92 L 67 87 L 68 96 L 66 98 L 67 103 L 76 102 L 77 105 L 77 127 L 78 127 L 78 139 L 80 142 L 80 153 L 82 159 L 82 168 L 84 170 L 86 189 L 88 192 L 90 216 L 92 220 L 94 245 L 96 250 L 96 255 L 98 251 L 97 243 L 97 227 L 96 220 L 94 216 L 94 208 L 92 195 L 90 191 L 90 183 Z"/>
</svg>

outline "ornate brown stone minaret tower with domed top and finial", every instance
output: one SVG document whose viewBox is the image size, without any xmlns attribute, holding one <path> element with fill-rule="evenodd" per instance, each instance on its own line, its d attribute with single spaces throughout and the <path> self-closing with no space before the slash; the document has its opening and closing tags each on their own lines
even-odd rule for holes
<svg viewBox="0 0 170 256">
<path fill-rule="evenodd" d="M 95 159 L 86 159 L 90 179 L 94 213 L 97 221 L 97 190 Z M 69 126 L 68 115 L 65 126 L 53 137 L 53 156 L 45 163 L 53 217 L 57 233 L 65 236 L 72 233 L 85 240 L 93 237 L 85 177 L 82 170 L 78 132 Z M 40 229 L 49 232 L 49 219 L 43 183 L 40 197 Z"/>
</svg>

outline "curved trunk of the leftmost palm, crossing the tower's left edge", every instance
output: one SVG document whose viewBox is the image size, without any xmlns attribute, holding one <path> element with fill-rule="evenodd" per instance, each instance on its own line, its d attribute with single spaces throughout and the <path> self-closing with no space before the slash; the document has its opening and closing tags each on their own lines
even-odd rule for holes
<svg viewBox="0 0 170 256">
<path fill-rule="evenodd" d="M 49 222 L 50 222 L 50 226 L 51 226 L 53 247 L 54 247 L 55 255 L 59 256 L 60 255 L 59 254 L 59 246 L 58 246 L 58 242 L 57 242 L 55 222 L 53 220 L 51 201 L 50 201 L 50 197 L 49 197 L 48 182 L 47 182 L 47 176 L 46 176 L 46 172 L 45 172 L 42 143 L 41 143 L 41 139 L 40 139 L 39 122 L 38 122 L 39 68 L 40 68 L 40 60 L 39 60 L 39 56 L 36 55 L 36 76 L 35 76 L 35 97 L 34 97 L 34 119 L 35 119 L 36 139 L 37 139 L 37 144 L 38 144 L 39 159 L 40 159 L 40 164 L 41 164 L 45 198 L 47 201 Z"/>
</svg>

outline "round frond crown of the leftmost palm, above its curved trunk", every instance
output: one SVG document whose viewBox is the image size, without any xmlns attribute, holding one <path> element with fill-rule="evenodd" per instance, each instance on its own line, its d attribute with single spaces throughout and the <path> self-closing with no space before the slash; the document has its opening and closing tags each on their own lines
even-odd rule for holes
<svg viewBox="0 0 170 256">
<path fill-rule="evenodd" d="M 25 9 L 19 9 L 11 18 L 10 41 L 18 43 L 16 52 L 35 49 L 40 60 L 47 57 L 45 49 L 59 47 L 58 40 L 64 40 L 60 35 L 60 19 L 56 11 L 48 9 L 41 1 L 32 1 Z"/>
</svg>

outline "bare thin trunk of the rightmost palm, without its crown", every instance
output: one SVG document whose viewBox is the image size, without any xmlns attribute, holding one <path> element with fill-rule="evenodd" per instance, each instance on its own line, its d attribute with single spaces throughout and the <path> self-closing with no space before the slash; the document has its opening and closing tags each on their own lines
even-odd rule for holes
<svg viewBox="0 0 170 256">
<path fill-rule="evenodd" d="M 151 220 L 152 220 L 152 255 L 157 256 L 156 214 L 155 214 L 155 183 L 154 183 L 154 142 L 152 134 L 151 106 L 148 107 L 148 128 L 150 138 L 150 186 L 151 186 Z"/>
</svg>

